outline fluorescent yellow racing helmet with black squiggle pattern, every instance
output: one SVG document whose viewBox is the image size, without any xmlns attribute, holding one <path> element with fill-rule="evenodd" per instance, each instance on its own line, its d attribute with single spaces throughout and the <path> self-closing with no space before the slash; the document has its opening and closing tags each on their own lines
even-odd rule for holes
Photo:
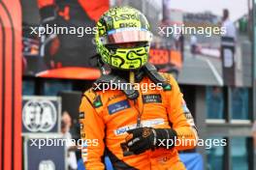
<svg viewBox="0 0 256 170">
<path fill-rule="evenodd" d="M 112 69 L 138 70 L 148 61 L 152 33 L 140 11 L 132 7 L 112 8 L 100 17 L 96 28 L 97 52 Z"/>
</svg>

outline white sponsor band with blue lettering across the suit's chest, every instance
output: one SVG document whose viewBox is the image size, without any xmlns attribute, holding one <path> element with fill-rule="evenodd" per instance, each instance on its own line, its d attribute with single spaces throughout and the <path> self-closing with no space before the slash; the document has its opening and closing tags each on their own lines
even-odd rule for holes
<svg viewBox="0 0 256 170">
<path fill-rule="evenodd" d="M 151 120 L 144 120 L 142 121 L 142 126 L 143 127 L 154 127 L 157 125 L 164 125 L 165 121 L 164 119 L 151 119 Z M 137 124 L 133 124 L 130 126 L 125 126 L 125 127 L 121 127 L 121 128 L 117 128 L 113 131 L 113 133 L 117 136 L 117 135 L 121 135 L 123 133 L 125 133 L 127 130 L 129 129 L 134 129 L 137 127 Z"/>
</svg>

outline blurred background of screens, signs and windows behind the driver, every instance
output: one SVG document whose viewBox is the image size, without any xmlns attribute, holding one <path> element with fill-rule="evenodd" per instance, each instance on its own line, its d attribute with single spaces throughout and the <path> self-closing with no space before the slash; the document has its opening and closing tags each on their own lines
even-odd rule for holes
<svg viewBox="0 0 256 170">
<path fill-rule="evenodd" d="M 101 14 L 123 5 L 146 15 L 154 35 L 149 62 L 175 75 L 200 138 L 227 140 L 227 146 L 180 153 L 187 169 L 255 169 L 255 1 L 4 0 L 0 5 L 2 169 L 83 169 L 76 146 L 39 150 L 30 139 L 80 139 L 80 97 L 100 76 L 92 30 Z M 46 24 L 88 28 L 88 33 L 31 34 L 31 27 Z M 161 34 L 174 26 L 227 32 Z M 106 163 L 111 169 L 108 157 Z"/>
</svg>

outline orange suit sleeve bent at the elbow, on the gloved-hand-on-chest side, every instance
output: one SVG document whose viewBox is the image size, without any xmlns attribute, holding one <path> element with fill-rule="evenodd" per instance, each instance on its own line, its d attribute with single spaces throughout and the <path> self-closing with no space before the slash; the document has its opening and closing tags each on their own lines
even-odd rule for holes
<svg viewBox="0 0 256 170">
<path fill-rule="evenodd" d="M 171 97 L 169 97 L 168 113 L 169 121 L 172 123 L 172 128 L 176 130 L 177 139 L 185 139 L 186 143 L 176 143 L 177 150 L 189 150 L 196 146 L 198 139 L 198 133 L 194 124 L 193 117 L 186 107 L 186 103 L 183 99 L 176 79 L 172 75 L 168 75 L 169 82 L 172 90 L 170 91 Z M 191 141 L 191 142 L 189 142 Z"/>
</svg>

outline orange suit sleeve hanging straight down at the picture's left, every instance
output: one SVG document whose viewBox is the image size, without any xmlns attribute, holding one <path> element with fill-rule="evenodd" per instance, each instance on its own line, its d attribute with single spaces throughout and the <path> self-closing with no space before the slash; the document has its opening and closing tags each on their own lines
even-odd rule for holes
<svg viewBox="0 0 256 170">
<path fill-rule="evenodd" d="M 87 142 L 81 146 L 84 166 L 89 170 L 103 170 L 105 124 L 92 103 L 83 96 L 80 103 L 80 138 Z M 89 145 L 90 144 L 90 145 Z"/>
</svg>

